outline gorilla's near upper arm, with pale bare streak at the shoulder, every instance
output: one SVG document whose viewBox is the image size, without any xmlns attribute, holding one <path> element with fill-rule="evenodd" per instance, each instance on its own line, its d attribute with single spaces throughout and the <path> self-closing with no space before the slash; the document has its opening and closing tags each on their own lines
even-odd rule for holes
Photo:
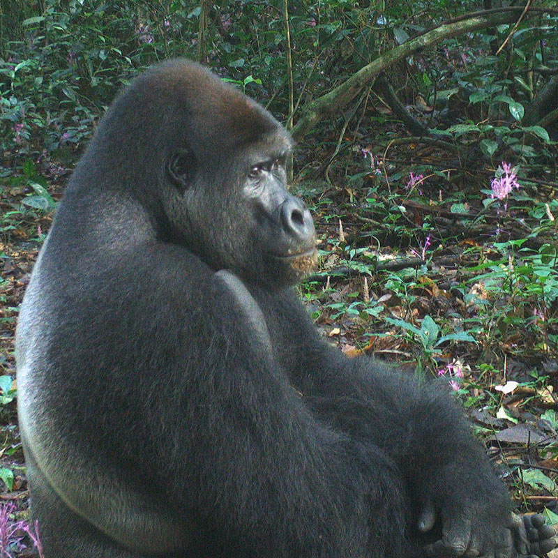
<svg viewBox="0 0 558 558">
<path fill-rule="evenodd" d="M 199 393 L 185 400 L 207 403 L 181 409 L 187 418 L 176 435 L 190 430 L 193 447 L 203 448 L 199 462 L 188 451 L 183 455 L 190 462 L 187 488 L 205 487 L 197 508 L 217 521 L 213 528 L 223 543 L 241 541 L 246 555 L 352 557 L 368 555 L 368 537 L 384 529 L 387 541 L 401 540 L 400 521 L 370 521 L 375 506 L 403 517 L 400 498 L 384 501 L 392 489 L 403 493 L 398 471 L 378 448 L 308 412 L 274 361 L 262 311 L 243 282 L 219 271 L 198 304 L 207 317 L 198 341 L 210 343 L 196 357 L 204 377 L 188 382 Z M 403 553 L 376 543 L 373 555 Z"/>
</svg>

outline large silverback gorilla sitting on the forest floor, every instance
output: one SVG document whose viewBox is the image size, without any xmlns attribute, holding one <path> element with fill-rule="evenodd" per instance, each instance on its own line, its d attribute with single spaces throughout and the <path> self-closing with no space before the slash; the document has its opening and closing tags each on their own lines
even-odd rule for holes
<svg viewBox="0 0 558 558">
<path fill-rule="evenodd" d="M 189 61 L 115 100 L 17 330 L 46 558 L 506 558 L 513 518 L 433 384 L 346 359 L 293 292 L 315 263 L 287 132 Z"/>
</svg>

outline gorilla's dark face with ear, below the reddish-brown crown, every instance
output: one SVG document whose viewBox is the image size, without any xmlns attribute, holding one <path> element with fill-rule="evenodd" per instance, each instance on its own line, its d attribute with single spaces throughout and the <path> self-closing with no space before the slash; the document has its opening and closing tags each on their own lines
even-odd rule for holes
<svg viewBox="0 0 558 558">
<path fill-rule="evenodd" d="M 271 133 L 219 161 L 200 161 L 190 147 L 174 151 L 165 188 L 180 243 L 216 271 L 269 289 L 298 282 L 317 259 L 310 211 L 286 188 L 291 140 L 273 124 Z"/>
</svg>

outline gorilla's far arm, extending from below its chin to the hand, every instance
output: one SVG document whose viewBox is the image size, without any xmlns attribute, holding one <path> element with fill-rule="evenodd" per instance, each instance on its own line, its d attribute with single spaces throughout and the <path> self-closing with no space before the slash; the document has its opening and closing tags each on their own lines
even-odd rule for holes
<svg viewBox="0 0 558 558">
<path fill-rule="evenodd" d="M 365 357 L 342 356 L 319 338 L 290 292 L 257 297 L 268 324 L 276 324 L 273 346 L 285 347 L 280 358 L 305 402 L 333 428 L 373 441 L 395 460 L 416 506 L 413 522 L 419 532 L 430 531 L 440 518 L 439 540 L 432 541 L 434 531 L 428 538 L 417 533 L 419 543 L 432 541 L 427 550 L 436 555 L 508 556 L 510 529 L 520 532 L 509 497 L 442 386 Z M 552 535 L 539 529 L 537 536 Z"/>
</svg>

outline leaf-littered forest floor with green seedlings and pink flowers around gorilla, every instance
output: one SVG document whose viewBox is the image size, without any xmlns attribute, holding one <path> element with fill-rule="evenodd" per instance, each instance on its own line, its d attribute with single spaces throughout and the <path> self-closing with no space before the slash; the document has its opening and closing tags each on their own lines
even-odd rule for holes
<svg viewBox="0 0 558 558">
<path fill-rule="evenodd" d="M 347 356 L 448 384 L 518 510 L 558 523 L 558 184 L 436 144 L 347 145 L 297 160 L 321 255 L 299 287 L 308 311 Z M 69 172 L 57 160 L 6 167 L 0 190 L 0 502 L 22 518 L 15 323 Z"/>
</svg>

